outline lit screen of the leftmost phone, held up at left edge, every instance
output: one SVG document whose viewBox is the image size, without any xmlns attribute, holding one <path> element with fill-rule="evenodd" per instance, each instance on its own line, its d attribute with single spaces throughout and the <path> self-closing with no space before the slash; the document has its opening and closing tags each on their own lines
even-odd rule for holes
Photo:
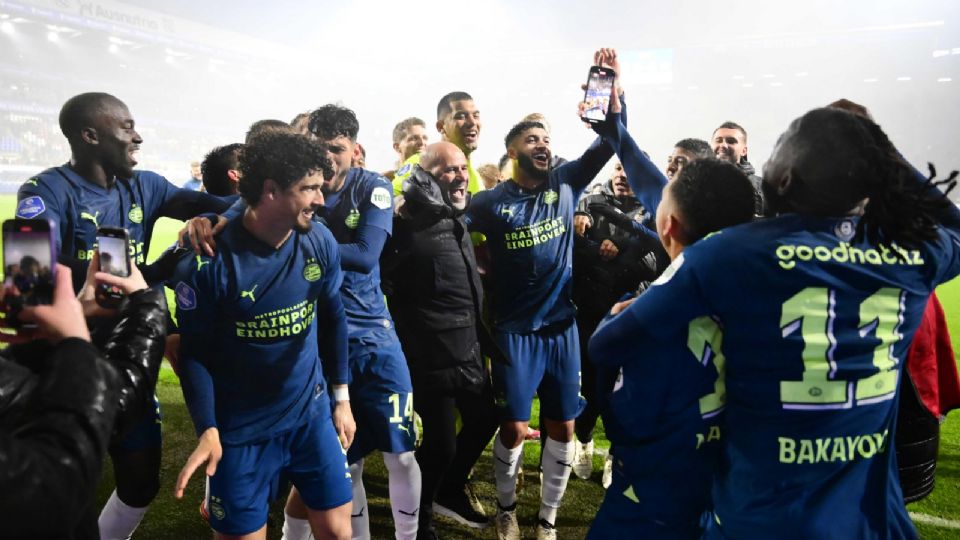
<svg viewBox="0 0 960 540">
<path fill-rule="evenodd" d="M 46 227 L 44 227 L 46 229 Z M 53 302 L 53 249 L 49 230 L 29 225 L 4 227 L 3 288 L 19 305 Z M 9 298 L 8 298 L 9 299 Z"/>
</svg>

